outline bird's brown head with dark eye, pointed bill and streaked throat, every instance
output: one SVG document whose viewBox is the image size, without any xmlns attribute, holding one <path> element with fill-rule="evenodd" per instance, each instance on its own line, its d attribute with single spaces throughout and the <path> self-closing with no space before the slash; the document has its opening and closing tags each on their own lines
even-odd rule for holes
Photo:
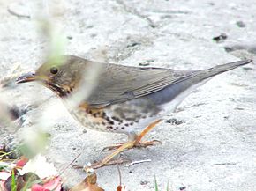
<svg viewBox="0 0 256 191">
<path fill-rule="evenodd" d="M 41 82 L 60 97 L 66 97 L 78 87 L 87 60 L 74 55 L 62 55 L 43 63 L 34 73 L 27 73 L 17 83 Z"/>
</svg>

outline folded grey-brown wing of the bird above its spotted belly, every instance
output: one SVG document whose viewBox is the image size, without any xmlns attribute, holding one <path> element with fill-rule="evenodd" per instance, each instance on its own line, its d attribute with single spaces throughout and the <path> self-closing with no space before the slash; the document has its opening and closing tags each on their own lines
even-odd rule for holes
<svg viewBox="0 0 256 191">
<path fill-rule="evenodd" d="M 192 71 L 162 68 L 138 68 L 116 64 L 105 64 L 103 67 L 102 77 L 87 99 L 91 107 L 105 107 L 158 92 L 177 80 L 192 75 Z"/>
</svg>

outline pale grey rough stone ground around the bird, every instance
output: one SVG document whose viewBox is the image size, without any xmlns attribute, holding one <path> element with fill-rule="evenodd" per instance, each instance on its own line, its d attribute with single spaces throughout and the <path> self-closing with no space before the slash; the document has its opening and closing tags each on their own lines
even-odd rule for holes
<svg viewBox="0 0 256 191">
<path fill-rule="evenodd" d="M 1 79 L 35 70 L 43 60 L 48 42 L 38 34 L 34 18 L 42 7 L 35 8 L 35 4 L 0 1 Z M 104 50 L 109 62 L 183 70 L 255 58 L 255 10 L 255 0 L 71 0 L 49 4 L 52 19 L 67 39 L 65 53 L 102 60 L 95 53 Z M 223 40 L 213 40 L 221 34 Z M 128 190 L 154 190 L 154 175 L 160 190 L 168 182 L 170 190 L 255 190 L 255 70 L 252 62 L 215 77 L 147 136 L 161 140 L 162 145 L 124 151 L 123 157 L 132 161 L 152 160 L 120 166 Z M 51 127 L 52 135 L 46 156 L 59 168 L 80 151 L 77 165 L 103 158 L 107 155 L 102 152 L 104 146 L 126 138 L 85 131 L 60 100 L 38 84 L 11 84 L 2 89 L 1 97 L 19 108 L 41 103 L 22 116 L 22 128 L 33 127 L 43 116 L 43 125 Z M 4 143 L 10 136 L 4 129 L 0 132 Z M 117 166 L 97 173 L 102 187 L 116 189 Z M 64 173 L 68 185 L 84 177 L 81 170 Z"/>
</svg>

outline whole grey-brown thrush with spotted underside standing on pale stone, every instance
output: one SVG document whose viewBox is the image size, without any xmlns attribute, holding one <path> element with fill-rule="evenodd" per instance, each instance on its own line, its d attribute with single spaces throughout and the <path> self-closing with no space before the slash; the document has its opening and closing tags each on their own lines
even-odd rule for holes
<svg viewBox="0 0 256 191">
<path fill-rule="evenodd" d="M 48 87 L 64 100 L 70 114 L 85 128 L 128 136 L 128 142 L 114 146 L 116 151 L 94 165 L 96 168 L 111 164 L 111 159 L 125 149 L 156 143 L 142 142 L 141 138 L 162 116 L 173 112 L 185 97 L 212 77 L 249 62 L 252 60 L 216 65 L 207 70 L 171 70 L 99 63 L 62 55 L 49 59 L 34 73 L 19 77 L 17 82 L 38 81 Z M 97 77 L 90 77 L 87 70 L 95 66 L 99 69 Z M 84 91 L 87 84 L 93 87 Z M 78 92 L 79 102 L 71 107 L 68 100 L 74 99 L 72 96 Z"/>
</svg>

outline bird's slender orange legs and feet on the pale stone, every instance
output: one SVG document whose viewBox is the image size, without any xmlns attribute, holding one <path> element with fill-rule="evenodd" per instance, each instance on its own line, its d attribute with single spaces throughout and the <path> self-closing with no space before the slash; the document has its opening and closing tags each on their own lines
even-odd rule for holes
<svg viewBox="0 0 256 191">
<path fill-rule="evenodd" d="M 134 139 L 132 141 L 128 141 L 127 143 L 123 143 L 122 145 L 118 146 L 117 150 L 111 153 L 109 156 L 104 158 L 101 162 L 93 164 L 91 167 L 92 168 L 100 168 L 103 165 L 115 165 L 115 164 L 120 164 L 127 162 L 127 160 L 124 159 L 117 159 L 117 160 L 112 160 L 112 158 L 116 157 L 120 152 L 126 150 L 126 149 L 132 149 L 133 147 L 147 147 L 150 145 L 154 145 L 154 143 L 161 143 L 159 141 L 153 140 L 149 142 L 143 142 L 141 143 L 141 139 L 143 136 L 147 134 L 148 131 L 154 128 L 154 126 L 159 123 L 161 120 L 154 121 L 150 125 L 147 126 L 146 129 L 144 129 L 139 136 L 134 136 Z"/>
</svg>

